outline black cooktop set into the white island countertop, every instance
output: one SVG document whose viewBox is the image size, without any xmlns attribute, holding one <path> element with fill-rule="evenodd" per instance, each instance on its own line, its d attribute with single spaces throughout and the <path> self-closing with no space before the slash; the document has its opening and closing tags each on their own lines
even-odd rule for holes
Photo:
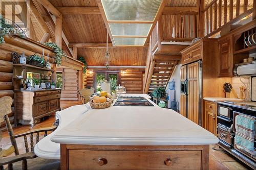
<svg viewBox="0 0 256 170">
<path fill-rule="evenodd" d="M 154 106 L 144 97 L 121 96 L 116 100 L 114 106 Z"/>
</svg>

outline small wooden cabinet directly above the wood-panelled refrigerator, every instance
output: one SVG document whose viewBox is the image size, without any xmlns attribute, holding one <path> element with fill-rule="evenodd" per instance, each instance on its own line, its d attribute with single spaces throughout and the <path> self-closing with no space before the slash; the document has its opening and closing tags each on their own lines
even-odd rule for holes
<svg viewBox="0 0 256 170">
<path fill-rule="evenodd" d="M 189 48 L 189 47 L 188 47 Z M 182 64 L 188 64 L 197 61 L 202 58 L 202 44 L 191 47 L 189 50 L 182 53 L 181 62 Z"/>
</svg>

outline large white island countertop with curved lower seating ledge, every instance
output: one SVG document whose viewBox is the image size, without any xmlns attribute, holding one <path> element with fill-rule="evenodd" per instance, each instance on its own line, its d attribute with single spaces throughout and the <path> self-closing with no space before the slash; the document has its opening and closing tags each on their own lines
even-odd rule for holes
<svg viewBox="0 0 256 170">
<path fill-rule="evenodd" d="M 38 157 L 60 159 L 59 143 L 191 145 L 218 142 L 207 130 L 174 110 L 156 104 L 154 107 L 111 106 L 90 110 L 78 105 L 56 116 L 60 119 L 57 130 L 35 145 Z"/>
</svg>

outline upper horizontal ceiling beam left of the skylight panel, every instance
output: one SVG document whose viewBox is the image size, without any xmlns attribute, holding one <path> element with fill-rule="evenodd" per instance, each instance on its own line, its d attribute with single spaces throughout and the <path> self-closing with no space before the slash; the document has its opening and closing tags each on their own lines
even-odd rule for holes
<svg viewBox="0 0 256 170">
<path fill-rule="evenodd" d="M 100 14 L 99 7 L 57 7 L 62 15 Z"/>
</svg>

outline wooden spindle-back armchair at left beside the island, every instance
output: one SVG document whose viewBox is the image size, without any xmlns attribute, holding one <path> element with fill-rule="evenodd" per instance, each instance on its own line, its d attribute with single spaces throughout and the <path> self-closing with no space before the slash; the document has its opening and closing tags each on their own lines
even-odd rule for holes
<svg viewBox="0 0 256 170">
<path fill-rule="evenodd" d="M 9 170 L 20 169 L 20 166 L 22 166 L 23 170 L 27 170 L 28 169 L 27 160 L 30 160 L 30 159 L 33 159 L 33 158 L 37 157 L 33 152 L 33 150 L 34 150 L 33 134 L 36 134 L 36 143 L 37 143 L 39 141 L 39 133 L 40 132 L 45 132 L 45 134 L 44 134 L 44 137 L 45 137 L 45 136 L 47 136 L 47 132 L 49 132 L 49 131 L 53 132 L 57 127 L 52 126 L 52 127 L 49 127 L 49 128 L 40 128 L 40 129 L 36 129 L 36 130 L 31 130 L 31 131 L 28 131 L 28 132 L 25 132 L 25 133 L 22 133 L 22 134 L 14 135 L 14 132 L 13 132 L 13 129 L 12 129 L 12 126 L 10 124 L 9 117 L 8 117 L 8 114 L 12 112 L 11 105 L 12 105 L 12 98 L 10 96 L 4 96 L 3 98 L 0 99 L 0 122 L 3 122 L 3 119 L 5 120 L 6 127 L 7 127 L 7 130 L 8 130 L 9 136 L 10 136 L 11 144 L 14 147 L 14 153 L 15 153 L 15 156 L 0 159 L 0 170 L 4 169 L 4 165 L 8 165 Z M 28 145 L 27 135 L 30 136 L 30 150 L 31 150 L 31 152 L 29 152 L 29 145 Z M 26 153 L 25 154 L 19 154 L 18 147 L 17 147 L 17 142 L 16 142 L 17 137 L 24 137 L 24 143 L 25 143 L 25 148 L 26 148 Z M 54 161 L 53 160 L 48 160 L 48 159 L 43 160 L 42 158 L 38 158 L 40 160 L 36 160 L 36 159 L 34 159 L 34 161 L 29 162 L 33 166 L 32 169 L 40 169 L 39 166 L 41 166 L 45 163 L 56 162 L 56 160 L 54 160 Z M 42 164 L 40 164 L 40 162 Z M 57 163 L 59 164 L 59 162 L 57 162 Z M 54 166 L 56 166 L 56 165 L 54 165 Z M 45 169 L 45 168 L 42 168 L 42 169 Z M 48 167 L 47 169 L 51 169 L 51 168 Z"/>
</svg>

